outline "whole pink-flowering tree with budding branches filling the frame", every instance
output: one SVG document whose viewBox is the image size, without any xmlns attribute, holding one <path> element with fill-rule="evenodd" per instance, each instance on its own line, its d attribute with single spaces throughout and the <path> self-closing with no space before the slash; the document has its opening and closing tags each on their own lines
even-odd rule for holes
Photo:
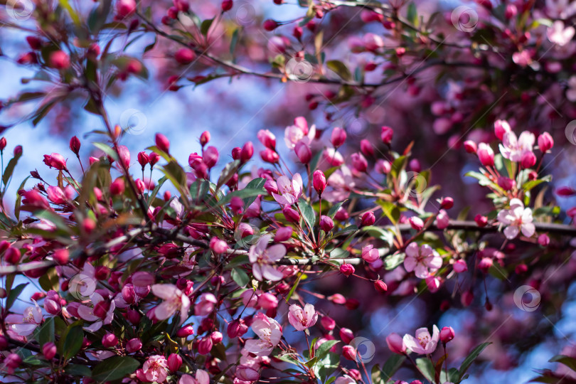
<svg viewBox="0 0 576 384">
<path fill-rule="evenodd" d="M 550 315 L 573 281 L 576 210 L 560 203 L 576 189 L 552 184 L 550 165 L 572 149 L 576 125 L 546 127 L 575 115 L 576 8 L 476 3 L 446 23 L 420 3 L 299 0 L 294 19 L 245 23 L 228 16 L 250 3 L 233 0 L 6 1 L 7 16 L 33 21 L 4 26 L 26 33 L 15 62 L 36 71 L 22 82 L 38 88 L 1 107 L 41 99 L 24 116 L 36 125 L 82 99 L 102 127 L 91 142 L 73 136 L 67 154 L 37 154 L 45 166 L 16 181 L 14 206 L 7 191 L 26 148 L 9 154 L 0 139 L 3 380 L 455 384 L 509 357 L 513 343 L 492 338 L 508 312 Z M 144 36 L 153 42 L 129 53 Z M 256 54 L 263 47 L 273 54 Z M 168 132 L 131 151 L 131 127 L 105 100 L 130 77 L 148 80 L 149 52 L 170 58 L 155 80 L 171 92 L 250 76 L 304 87 L 307 110 L 324 115 L 285 119 L 283 142 L 272 129 L 255 130 L 257 142 L 233 137 L 229 153 L 209 130 L 187 135 L 188 159 Z M 391 127 L 377 108 L 390 87 L 417 97 L 430 75 L 442 90 L 421 101 L 430 143 L 471 164 L 464 178 L 482 200 L 471 209 L 462 190 L 446 192 L 454 175 L 434 184 L 443 152 L 422 166 L 410 135 L 430 132 Z M 366 138 L 338 114 L 370 121 Z M 431 315 L 403 336 L 369 330 L 366 318 L 407 316 L 421 295 Z M 456 316 L 439 324 L 452 307 L 488 331 L 455 331 Z M 535 381 L 576 380 L 576 353 L 550 361 L 562 368 Z"/>
</svg>

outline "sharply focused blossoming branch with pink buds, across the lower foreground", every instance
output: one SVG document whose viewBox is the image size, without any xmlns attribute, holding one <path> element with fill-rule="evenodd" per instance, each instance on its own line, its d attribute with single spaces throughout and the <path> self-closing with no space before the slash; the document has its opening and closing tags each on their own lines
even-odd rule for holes
<svg viewBox="0 0 576 384">
<path fill-rule="evenodd" d="M 540 135 L 535 147 L 532 134 L 518 139 L 504 121 L 495 129 L 500 154 L 484 143 L 465 145 L 483 166 L 469 176 L 494 202 L 493 212 L 474 221 L 451 222 L 454 200 L 432 200 L 437 188 L 429 185 L 430 171 L 417 169 L 410 147 L 392 150 L 390 127 L 381 129 L 388 150 L 375 151 L 364 140 L 346 164 L 339 151 L 347 140 L 343 129 L 323 139 L 297 117 L 285 129 L 284 144 L 302 171 L 283 159 L 267 130 L 257 134 L 267 167 L 246 170 L 255 151 L 246 142 L 214 178 L 220 153 L 209 145 L 209 132 L 201 134 L 186 166 L 162 134 L 133 162 L 119 144 L 119 127 L 107 131 L 108 144 L 97 144 L 102 156 L 90 158 L 78 178 L 65 156 L 45 155 L 46 166 L 58 171 L 55 182 L 33 171 L 38 182 L 18 191 L 18 215 L 3 226 L 3 370 L 19 380 L 82 375 L 89 382 L 184 384 L 280 380 L 290 372 L 299 380 L 343 384 L 369 382 L 374 372 L 386 383 L 406 361 L 431 383 L 460 383 L 489 343 L 449 368 L 452 329 L 390 335 L 398 356 L 369 373 L 358 338 L 343 327 L 335 334 L 336 321 L 320 309 L 358 303 L 306 287 L 339 275 L 369 282 L 380 294 L 434 294 L 454 280 L 462 302 L 470 304 L 476 279 L 525 274 L 538 264 L 538 257 L 507 260 L 502 250 L 510 242 L 538 244 L 562 260 L 565 236 L 575 228 L 553 223 L 554 201 L 543 206 L 542 197 L 533 198 L 550 180 L 538 169 L 553 140 Z M 81 163 L 80 146 L 78 138 L 70 140 Z M 132 174 L 134 167 L 143 178 Z M 164 176 L 144 178 L 146 169 Z M 176 196 L 159 196 L 166 183 Z M 533 204 L 540 206 L 533 210 Z M 29 215 L 19 220 L 20 212 Z M 19 314 L 12 307 L 26 280 L 41 291 Z M 24 282 L 14 285 L 18 281 Z M 319 301 L 307 302 L 309 294 Z M 287 326 L 304 331 L 306 342 L 288 341 Z M 440 342 L 443 354 L 434 360 Z M 413 354 L 425 357 L 414 360 Z"/>
</svg>

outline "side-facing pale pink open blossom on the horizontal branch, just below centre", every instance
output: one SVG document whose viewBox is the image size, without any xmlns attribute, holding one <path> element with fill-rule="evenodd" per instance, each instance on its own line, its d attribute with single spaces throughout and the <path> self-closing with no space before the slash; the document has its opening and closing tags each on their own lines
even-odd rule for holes
<svg viewBox="0 0 576 384">
<path fill-rule="evenodd" d="M 248 258 L 252 263 L 252 273 L 257 280 L 263 279 L 277 282 L 282 279 L 282 272 L 279 272 L 272 263 L 277 262 L 286 255 L 286 247 L 282 244 L 268 247 L 272 240 L 272 235 L 264 235 L 255 245 L 250 247 Z"/>
</svg>

